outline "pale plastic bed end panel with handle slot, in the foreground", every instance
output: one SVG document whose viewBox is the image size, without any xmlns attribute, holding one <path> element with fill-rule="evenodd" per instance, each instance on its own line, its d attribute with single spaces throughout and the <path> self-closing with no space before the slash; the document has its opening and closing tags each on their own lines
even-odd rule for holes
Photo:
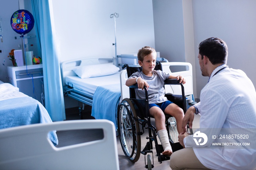
<svg viewBox="0 0 256 170">
<path fill-rule="evenodd" d="M 55 147 L 49 131 L 103 131 L 101 139 Z M 0 130 L 0 169 L 119 170 L 116 133 L 108 120 L 69 120 Z"/>
</svg>

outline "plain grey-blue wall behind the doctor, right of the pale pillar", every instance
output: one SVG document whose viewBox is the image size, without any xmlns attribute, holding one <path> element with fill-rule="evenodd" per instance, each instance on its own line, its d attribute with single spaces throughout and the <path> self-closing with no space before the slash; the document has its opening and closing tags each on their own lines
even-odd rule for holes
<svg viewBox="0 0 256 170">
<path fill-rule="evenodd" d="M 227 65 L 243 70 L 256 86 L 256 1 L 255 0 L 192 0 L 195 55 L 200 42 L 212 36 L 228 46 Z M 207 83 L 196 62 L 197 96 Z"/>
</svg>

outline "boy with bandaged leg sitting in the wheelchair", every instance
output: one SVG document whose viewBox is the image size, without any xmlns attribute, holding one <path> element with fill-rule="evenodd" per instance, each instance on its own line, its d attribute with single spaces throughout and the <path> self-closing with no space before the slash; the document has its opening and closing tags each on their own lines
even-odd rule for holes
<svg viewBox="0 0 256 170">
<path fill-rule="evenodd" d="M 142 67 L 142 72 L 136 72 L 129 77 L 125 83 L 131 86 L 138 83 L 138 88 L 135 90 L 138 99 L 145 99 L 144 86 L 148 89 L 149 112 L 155 118 L 158 138 L 163 146 L 163 155 L 170 156 L 172 147 L 170 146 L 167 130 L 165 127 L 165 114 L 172 115 L 177 121 L 177 130 L 182 132 L 182 118 L 184 117 L 183 110 L 176 104 L 167 100 L 165 97 L 165 89 L 163 88 L 164 81 L 169 78 L 176 78 L 180 83 L 185 84 L 185 79 L 182 76 L 172 76 L 161 70 L 154 70 L 157 59 L 155 49 L 145 46 L 138 52 L 138 62 Z"/>
</svg>

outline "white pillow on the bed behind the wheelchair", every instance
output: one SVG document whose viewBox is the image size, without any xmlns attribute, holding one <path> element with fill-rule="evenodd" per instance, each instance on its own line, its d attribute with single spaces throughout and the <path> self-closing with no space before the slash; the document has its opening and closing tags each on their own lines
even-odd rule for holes
<svg viewBox="0 0 256 170">
<path fill-rule="evenodd" d="M 119 71 L 113 64 L 97 64 L 82 66 L 73 70 L 80 78 L 108 76 Z"/>
</svg>

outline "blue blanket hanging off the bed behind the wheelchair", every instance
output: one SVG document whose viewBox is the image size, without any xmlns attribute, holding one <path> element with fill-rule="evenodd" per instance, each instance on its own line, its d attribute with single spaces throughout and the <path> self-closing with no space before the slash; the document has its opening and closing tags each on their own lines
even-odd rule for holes
<svg viewBox="0 0 256 170">
<path fill-rule="evenodd" d="M 91 116 L 95 119 L 110 120 L 117 129 L 117 108 L 120 97 L 120 84 L 99 86 L 93 94 Z"/>
</svg>

